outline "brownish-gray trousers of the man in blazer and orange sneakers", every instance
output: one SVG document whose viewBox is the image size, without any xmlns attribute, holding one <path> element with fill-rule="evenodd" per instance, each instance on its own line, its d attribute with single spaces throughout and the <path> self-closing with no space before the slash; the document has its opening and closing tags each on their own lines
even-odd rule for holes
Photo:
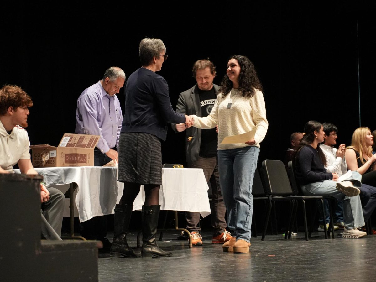
<svg viewBox="0 0 376 282">
<path fill-rule="evenodd" d="M 203 158 L 199 156 L 196 162 L 188 164 L 190 168 L 202 168 L 205 179 L 210 181 L 212 187 L 212 206 L 211 206 L 211 224 L 213 227 L 213 235 L 219 235 L 224 232 L 226 228 L 226 208 L 224 206 L 221 186 L 219 184 L 218 160 L 217 157 Z M 186 229 L 190 232 L 200 233 L 199 212 L 185 212 Z"/>
</svg>

